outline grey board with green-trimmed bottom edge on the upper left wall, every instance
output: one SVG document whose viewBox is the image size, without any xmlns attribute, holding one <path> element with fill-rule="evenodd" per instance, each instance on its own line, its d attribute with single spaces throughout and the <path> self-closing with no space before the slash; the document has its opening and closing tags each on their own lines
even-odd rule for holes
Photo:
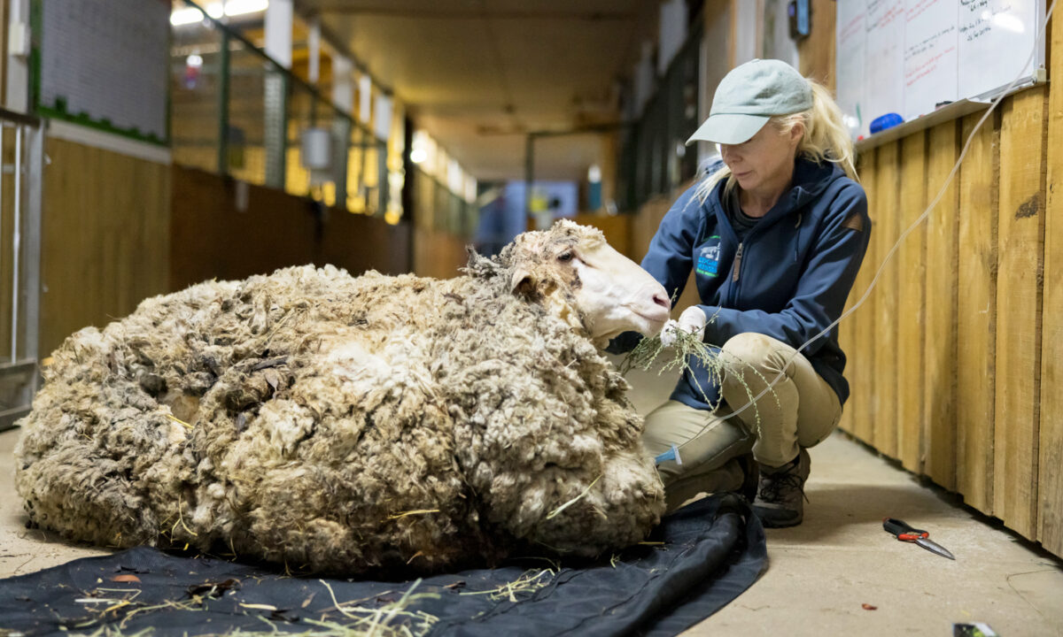
<svg viewBox="0 0 1063 637">
<path fill-rule="evenodd" d="M 165 142 L 170 2 L 38 2 L 41 113 Z"/>
</svg>

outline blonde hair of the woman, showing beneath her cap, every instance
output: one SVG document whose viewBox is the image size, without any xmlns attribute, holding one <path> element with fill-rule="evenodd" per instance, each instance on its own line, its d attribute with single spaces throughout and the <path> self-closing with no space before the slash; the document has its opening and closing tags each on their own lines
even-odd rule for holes
<svg viewBox="0 0 1063 637">
<path fill-rule="evenodd" d="M 830 91 L 814 80 L 808 80 L 812 87 L 812 107 L 802 113 L 774 115 L 767 124 L 774 125 L 780 135 L 789 133 L 797 123 L 805 126 L 805 134 L 797 142 L 798 157 L 822 163 L 830 161 L 842 167 L 845 175 L 859 182 L 856 168 L 856 153 L 853 138 L 842 118 L 842 109 L 830 97 Z M 729 193 L 738 182 L 726 166 L 707 176 L 697 185 L 697 199 L 704 203 L 716 184 L 726 179 L 724 192 Z"/>
</svg>

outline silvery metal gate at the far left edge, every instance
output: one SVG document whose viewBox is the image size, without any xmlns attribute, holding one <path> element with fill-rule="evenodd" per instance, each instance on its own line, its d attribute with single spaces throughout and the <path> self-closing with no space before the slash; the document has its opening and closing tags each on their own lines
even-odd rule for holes
<svg viewBox="0 0 1063 637">
<path fill-rule="evenodd" d="M 40 120 L 0 108 L 0 431 L 30 411 L 39 383 Z"/>
</svg>

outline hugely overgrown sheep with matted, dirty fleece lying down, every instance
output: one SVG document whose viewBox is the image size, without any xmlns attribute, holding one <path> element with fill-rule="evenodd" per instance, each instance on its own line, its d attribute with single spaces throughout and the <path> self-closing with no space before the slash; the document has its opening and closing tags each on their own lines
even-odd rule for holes
<svg viewBox="0 0 1063 637">
<path fill-rule="evenodd" d="M 559 222 L 462 276 L 333 266 L 207 281 L 69 337 L 21 420 L 31 523 L 303 572 L 595 555 L 664 510 L 600 351 L 664 290 Z"/>
</svg>

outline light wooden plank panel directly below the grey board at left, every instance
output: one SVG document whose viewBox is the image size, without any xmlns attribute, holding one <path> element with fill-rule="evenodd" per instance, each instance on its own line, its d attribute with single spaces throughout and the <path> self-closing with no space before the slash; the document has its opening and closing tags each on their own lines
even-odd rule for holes
<svg viewBox="0 0 1063 637">
<path fill-rule="evenodd" d="M 40 352 L 167 291 L 170 168 L 49 138 L 40 256 Z"/>
</svg>

